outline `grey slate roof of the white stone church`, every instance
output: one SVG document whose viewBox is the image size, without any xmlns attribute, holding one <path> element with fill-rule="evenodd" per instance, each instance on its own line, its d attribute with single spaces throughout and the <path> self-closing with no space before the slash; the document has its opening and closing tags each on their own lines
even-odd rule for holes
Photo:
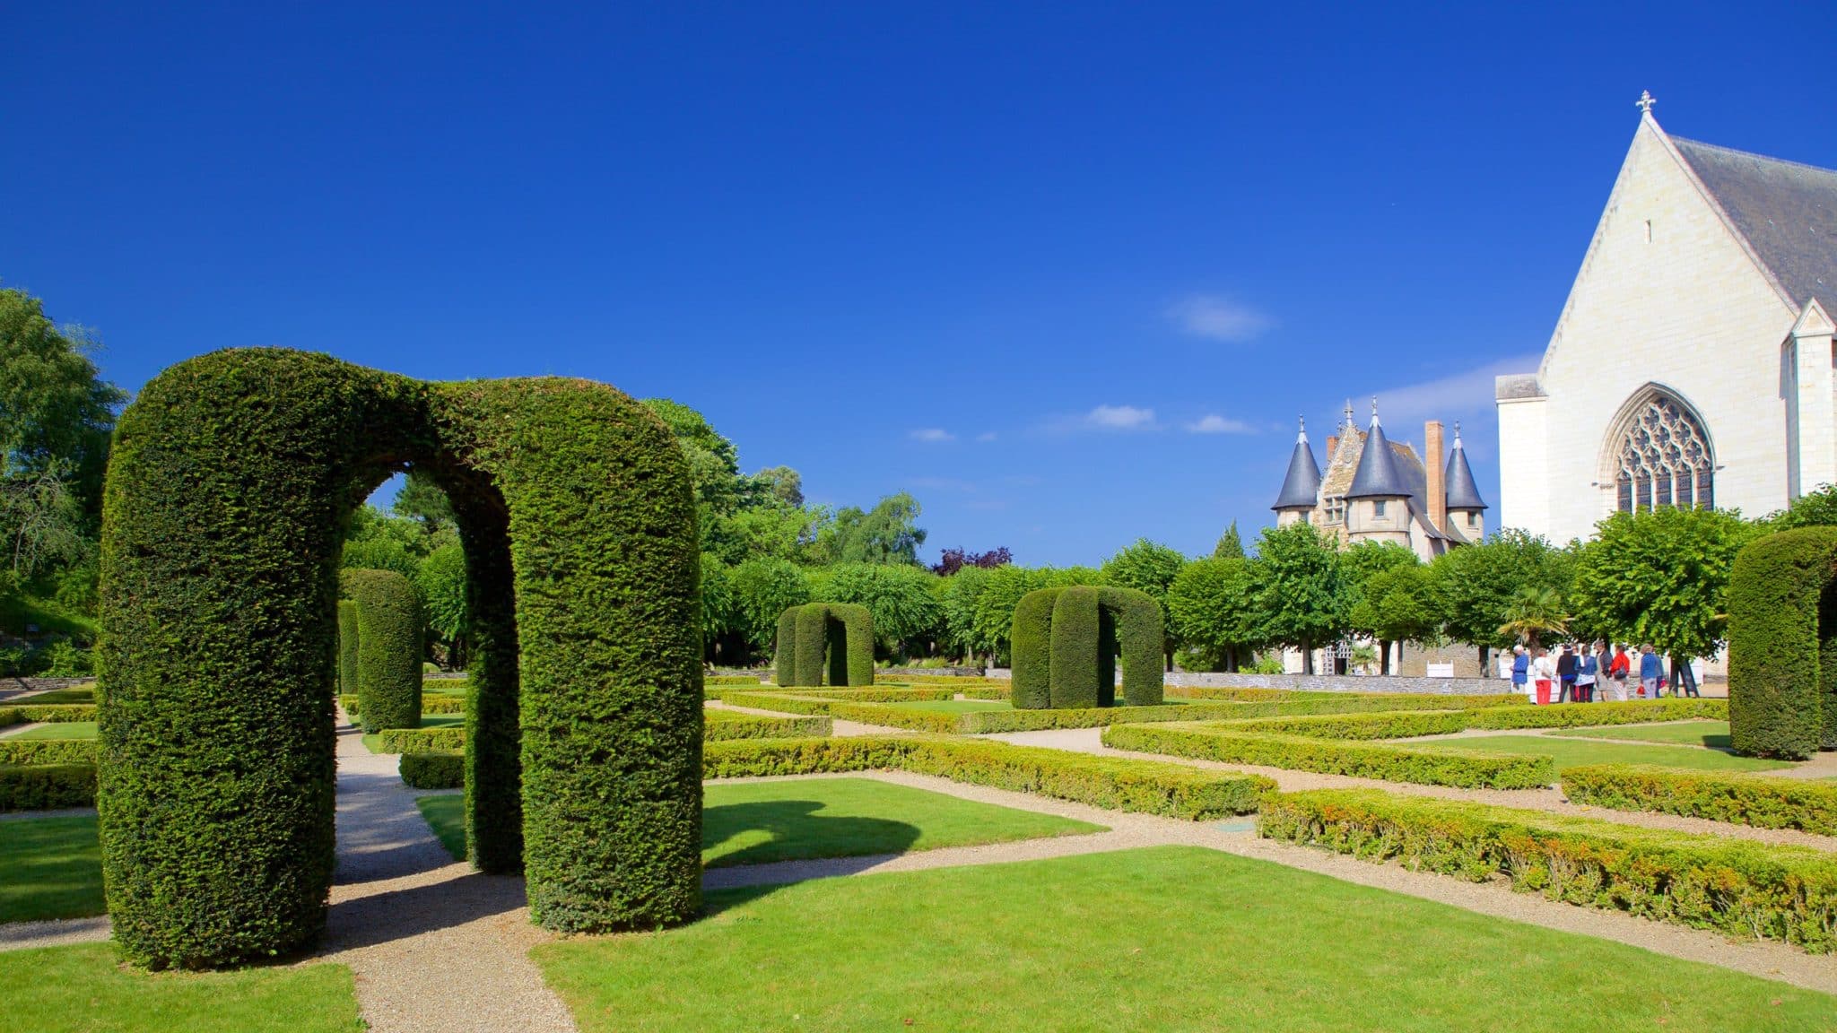
<svg viewBox="0 0 1837 1033">
<path fill-rule="evenodd" d="M 1677 153 L 1804 307 L 1837 305 L 1837 171 L 1672 136 Z"/>
</svg>

